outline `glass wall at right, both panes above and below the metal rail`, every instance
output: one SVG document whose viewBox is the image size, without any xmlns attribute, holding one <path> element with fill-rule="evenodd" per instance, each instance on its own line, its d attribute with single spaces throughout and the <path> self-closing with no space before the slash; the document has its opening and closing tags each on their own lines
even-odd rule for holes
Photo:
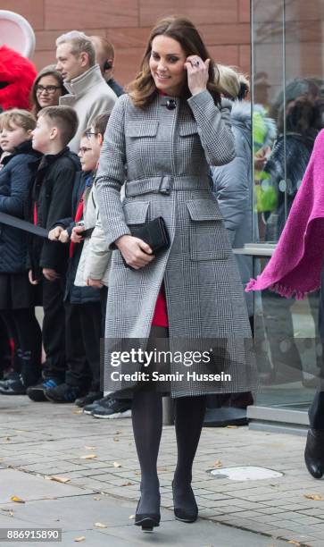
<svg viewBox="0 0 324 547">
<path fill-rule="evenodd" d="M 324 0 L 252 0 L 255 240 L 278 240 L 324 126 L 323 21 Z M 318 293 L 255 296 L 257 404 L 308 407 L 322 368 L 318 308 Z"/>
</svg>

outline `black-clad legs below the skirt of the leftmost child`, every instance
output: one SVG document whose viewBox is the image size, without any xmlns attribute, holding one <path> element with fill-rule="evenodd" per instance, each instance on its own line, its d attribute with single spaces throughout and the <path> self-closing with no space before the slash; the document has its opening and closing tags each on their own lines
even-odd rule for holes
<svg viewBox="0 0 324 547">
<path fill-rule="evenodd" d="M 24 383 L 36 383 L 41 374 L 42 332 L 35 307 L 2 310 L 0 317 L 12 333 Z"/>
</svg>

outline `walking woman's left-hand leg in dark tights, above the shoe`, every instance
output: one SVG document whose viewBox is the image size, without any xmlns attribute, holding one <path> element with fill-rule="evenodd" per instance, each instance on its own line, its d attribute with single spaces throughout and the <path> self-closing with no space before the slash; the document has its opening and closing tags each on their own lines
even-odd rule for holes
<svg viewBox="0 0 324 547">
<path fill-rule="evenodd" d="M 132 422 L 141 467 L 141 500 L 137 513 L 159 513 L 160 493 L 156 464 L 162 434 L 162 395 L 156 391 L 136 391 L 133 397 Z"/>
</svg>

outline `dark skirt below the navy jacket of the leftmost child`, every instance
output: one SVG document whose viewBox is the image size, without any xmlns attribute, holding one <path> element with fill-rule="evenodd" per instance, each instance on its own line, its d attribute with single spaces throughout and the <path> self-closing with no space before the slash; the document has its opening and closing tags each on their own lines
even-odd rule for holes
<svg viewBox="0 0 324 547">
<path fill-rule="evenodd" d="M 29 283 L 28 272 L 0 272 L 0 310 L 41 306 L 39 285 Z"/>
</svg>

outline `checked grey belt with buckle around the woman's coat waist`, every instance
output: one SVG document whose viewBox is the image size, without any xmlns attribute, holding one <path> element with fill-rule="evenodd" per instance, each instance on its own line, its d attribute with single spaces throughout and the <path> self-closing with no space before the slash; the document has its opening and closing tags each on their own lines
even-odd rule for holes
<svg viewBox="0 0 324 547">
<path fill-rule="evenodd" d="M 125 197 L 132 198 L 143 194 L 166 194 L 170 195 L 171 190 L 195 190 L 211 189 L 212 180 L 208 175 L 184 175 L 173 177 L 163 175 L 161 177 L 150 177 L 138 181 L 127 181 L 125 183 Z"/>
</svg>

